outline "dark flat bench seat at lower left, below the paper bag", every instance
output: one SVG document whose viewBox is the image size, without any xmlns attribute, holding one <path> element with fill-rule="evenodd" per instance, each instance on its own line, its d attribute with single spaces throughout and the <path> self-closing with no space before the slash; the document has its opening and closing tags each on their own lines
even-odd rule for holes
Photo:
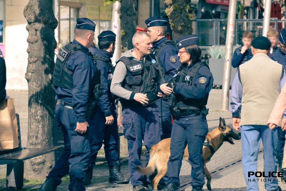
<svg viewBox="0 0 286 191">
<path fill-rule="evenodd" d="M 21 151 L 16 151 L 13 153 L 7 153 L 4 155 L 0 155 L 0 163 L 1 161 L 24 161 L 29 158 L 34 158 L 39 155 L 43 155 L 46 153 L 50 153 L 52 151 L 57 150 L 62 146 L 51 146 L 51 147 L 41 147 L 41 148 L 28 148 L 23 149 Z"/>
</svg>

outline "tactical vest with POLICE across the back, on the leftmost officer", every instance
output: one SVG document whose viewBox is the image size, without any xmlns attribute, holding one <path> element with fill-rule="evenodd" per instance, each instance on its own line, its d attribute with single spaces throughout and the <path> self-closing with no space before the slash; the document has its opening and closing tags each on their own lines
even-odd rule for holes
<svg viewBox="0 0 286 191">
<path fill-rule="evenodd" d="M 83 49 L 79 44 L 67 44 L 61 47 L 59 53 L 57 54 L 57 60 L 55 63 L 55 69 L 53 74 L 53 84 L 58 87 L 67 88 L 72 90 L 73 83 L 73 72 L 68 70 L 66 67 L 66 61 L 78 51 L 83 51 L 88 54 L 88 52 Z"/>
</svg>

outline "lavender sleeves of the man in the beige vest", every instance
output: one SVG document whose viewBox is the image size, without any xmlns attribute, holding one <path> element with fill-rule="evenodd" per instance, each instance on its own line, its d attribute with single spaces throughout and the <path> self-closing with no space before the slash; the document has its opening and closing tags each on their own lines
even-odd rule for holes
<svg viewBox="0 0 286 191">
<path fill-rule="evenodd" d="M 277 51 L 276 51 L 277 52 Z M 280 80 L 280 90 L 284 86 L 286 82 L 285 71 L 283 77 Z M 229 110 L 232 113 L 232 116 L 237 117 L 240 116 L 241 110 L 241 98 L 242 98 L 242 84 L 238 78 L 238 72 L 235 74 L 232 86 L 231 86 L 231 95 L 230 95 L 230 108 Z M 286 113 L 284 112 L 283 118 L 286 118 Z"/>
</svg>

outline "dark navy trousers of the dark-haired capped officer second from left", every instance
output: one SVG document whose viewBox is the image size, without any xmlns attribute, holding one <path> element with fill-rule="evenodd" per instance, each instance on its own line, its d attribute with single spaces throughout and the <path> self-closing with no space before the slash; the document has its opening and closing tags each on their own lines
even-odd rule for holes
<svg viewBox="0 0 286 191">
<path fill-rule="evenodd" d="M 99 109 L 94 114 L 94 117 L 88 122 L 91 134 L 90 151 L 91 160 L 89 165 L 94 165 L 97 153 L 100 150 L 102 143 L 104 144 L 105 158 L 108 165 L 113 165 L 118 159 L 117 144 L 118 144 L 118 126 L 117 117 L 114 108 L 111 108 L 114 118 L 112 125 L 105 125 L 105 116 Z"/>
</svg>

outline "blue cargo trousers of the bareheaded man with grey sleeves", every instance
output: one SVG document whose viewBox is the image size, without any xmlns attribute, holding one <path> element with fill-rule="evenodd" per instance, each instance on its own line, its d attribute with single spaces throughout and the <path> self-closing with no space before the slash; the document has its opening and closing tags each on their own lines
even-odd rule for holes
<svg viewBox="0 0 286 191">
<path fill-rule="evenodd" d="M 146 166 L 149 161 L 151 147 L 161 140 L 161 127 L 159 113 L 156 104 L 140 106 L 139 104 L 127 104 L 122 106 L 122 125 L 124 137 L 128 140 L 129 173 L 133 186 L 142 185 L 147 177 L 142 176 L 136 166 L 142 167 L 141 151 L 142 140 L 146 152 Z"/>
</svg>

